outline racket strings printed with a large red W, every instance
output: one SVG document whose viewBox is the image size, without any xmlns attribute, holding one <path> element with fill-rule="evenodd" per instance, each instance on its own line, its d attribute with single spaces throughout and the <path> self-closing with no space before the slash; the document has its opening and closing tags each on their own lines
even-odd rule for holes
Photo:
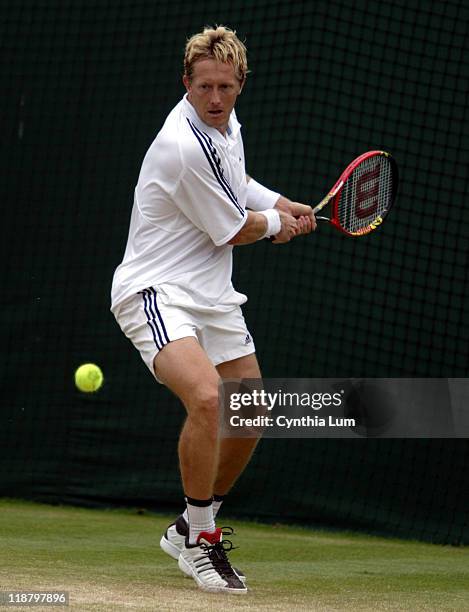
<svg viewBox="0 0 469 612">
<path fill-rule="evenodd" d="M 366 233 L 384 218 L 391 204 L 392 181 L 391 163 L 382 155 L 357 166 L 345 182 L 337 206 L 342 228 L 351 234 Z"/>
</svg>

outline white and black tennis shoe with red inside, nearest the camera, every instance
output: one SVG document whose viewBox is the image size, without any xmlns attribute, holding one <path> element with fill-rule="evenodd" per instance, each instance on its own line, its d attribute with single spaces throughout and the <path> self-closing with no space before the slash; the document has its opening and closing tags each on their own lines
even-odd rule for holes
<svg viewBox="0 0 469 612">
<path fill-rule="evenodd" d="M 197 586 L 209 593 L 233 593 L 244 595 L 247 588 L 235 574 L 227 556 L 233 548 L 230 540 L 223 540 L 223 535 L 230 535 L 233 530 L 223 532 L 217 528 L 213 533 L 202 531 L 196 544 L 184 543 L 178 559 L 178 565 L 185 574 L 190 574 Z"/>
</svg>

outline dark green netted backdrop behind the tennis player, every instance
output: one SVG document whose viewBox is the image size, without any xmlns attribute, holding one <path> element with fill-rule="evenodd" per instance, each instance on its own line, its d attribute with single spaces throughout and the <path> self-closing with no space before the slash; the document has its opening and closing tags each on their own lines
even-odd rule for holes
<svg viewBox="0 0 469 612">
<path fill-rule="evenodd" d="M 318 201 L 367 149 L 397 159 L 395 210 L 236 249 L 265 376 L 467 377 L 463 2 L 2 3 L 0 493 L 181 507 L 183 411 L 109 313 L 146 149 L 183 94 L 187 36 L 237 29 L 248 171 Z M 73 371 L 99 363 L 99 394 Z M 468 542 L 466 440 L 264 440 L 226 512 Z"/>
</svg>

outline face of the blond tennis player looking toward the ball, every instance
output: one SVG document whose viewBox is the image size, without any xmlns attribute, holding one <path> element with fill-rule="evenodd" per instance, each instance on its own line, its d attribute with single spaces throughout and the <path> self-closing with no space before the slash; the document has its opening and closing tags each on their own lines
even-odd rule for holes
<svg viewBox="0 0 469 612">
<path fill-rule="evenodd" d="M 200 119 L 225 134 L 236 98 L 243 88 L 233 65 L 202 59 L 194 64 L 192 80 L 184 76 L 183 81 L 188 100 Z"/>
</svg>

